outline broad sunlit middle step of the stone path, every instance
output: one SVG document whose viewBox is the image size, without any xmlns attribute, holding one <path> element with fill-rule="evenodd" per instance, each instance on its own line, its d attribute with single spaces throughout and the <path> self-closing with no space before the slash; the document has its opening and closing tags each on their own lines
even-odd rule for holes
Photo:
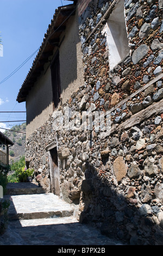
<svg viewBox="0 0 163 256">
<path fill-rule="evenodd" d="M 22 194 L 9 196 L 9 220 L 34 220 L 72 216 L 74 208 L 53 193 Z"/>
</svg>

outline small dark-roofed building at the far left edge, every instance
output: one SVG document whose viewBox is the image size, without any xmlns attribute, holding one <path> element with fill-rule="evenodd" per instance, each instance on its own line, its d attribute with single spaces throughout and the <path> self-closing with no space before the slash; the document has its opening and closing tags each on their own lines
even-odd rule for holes
<svg viewBox="0 0 163 256">
<path fill-rule="evenodd" d="M 12 145 L 14 142 L 0 132 L 0 170 L 9 165 L 9 148 Z"/>
</svg>

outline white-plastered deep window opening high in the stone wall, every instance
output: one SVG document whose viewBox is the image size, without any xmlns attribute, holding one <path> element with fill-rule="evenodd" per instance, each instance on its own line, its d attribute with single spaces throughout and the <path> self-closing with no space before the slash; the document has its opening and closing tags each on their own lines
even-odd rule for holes
<svg viewBox="0 0 163 256">
<path fill-rule="evenodd" d="M 116 4 L 103 33 L 106 33 L 109 47 L 109 65 L 110 70 L 112 70 L 130 51 L 124 18 L 124 0 Z"/>
</svg>

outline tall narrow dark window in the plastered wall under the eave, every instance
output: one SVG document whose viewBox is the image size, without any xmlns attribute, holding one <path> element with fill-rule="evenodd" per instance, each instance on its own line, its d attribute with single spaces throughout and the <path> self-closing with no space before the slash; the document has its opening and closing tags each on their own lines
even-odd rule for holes
<svg viewBox="0 0 163 256">
<path fill-rule="evenodd" d="M 52 77 L 52 91 L 53 91 L 53 111 L 58 107 L 60 102 L 60 64 L 59 64 L 59 52 L 54 57 L 51 64 L 51 77 Z"/>
</svg>

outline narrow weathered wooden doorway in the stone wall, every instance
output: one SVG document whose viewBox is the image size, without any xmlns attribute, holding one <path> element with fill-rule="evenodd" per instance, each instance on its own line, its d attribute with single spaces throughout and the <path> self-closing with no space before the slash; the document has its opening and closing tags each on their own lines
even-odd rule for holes
<svg viewBox="0 0 163 256">
<path fill-rule="evenodd" d="M 52 193 L 60 196 L 60 174 L 58 167 L 58 154 L 57 147 L 49 150 L 49 167 L 50 167 L 50 175 L 51 175 L 51 190 Z"/>
</svg>

